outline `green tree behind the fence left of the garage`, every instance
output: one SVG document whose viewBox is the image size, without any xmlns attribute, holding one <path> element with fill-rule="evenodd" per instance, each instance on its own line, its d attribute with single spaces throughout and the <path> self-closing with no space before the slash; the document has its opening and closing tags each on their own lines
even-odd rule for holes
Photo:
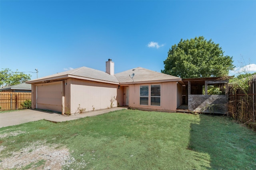
<svg viewBox="0 0 256 170">
<path fill-rule="evenodd" d="M 24 74 L 23 72 L 13 72 L 9 68 L 4 68 L 0 71 L 0 86 L 12 86 L 15 84 L 24 83 L 31 79 L 30 74 Z"/>
</svg>

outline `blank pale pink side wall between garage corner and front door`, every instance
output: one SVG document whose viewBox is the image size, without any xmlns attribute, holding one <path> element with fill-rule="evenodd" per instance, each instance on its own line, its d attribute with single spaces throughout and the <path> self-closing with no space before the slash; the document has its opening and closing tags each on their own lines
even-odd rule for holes
<svg viewBox="0 0 256 170">
<path fill-rule="evenodd" d="M 118 96 L 120 95 L 118 91 L 122 91 L 118 89 L 118 85 L 71 79 L 70 111 L 76 113 L 78 107 L 86 111 L 92 111 L 93 108 L 98 110 L 117 107 L 118 103 L 122 103 L 122 97 Z"/>
</svg>

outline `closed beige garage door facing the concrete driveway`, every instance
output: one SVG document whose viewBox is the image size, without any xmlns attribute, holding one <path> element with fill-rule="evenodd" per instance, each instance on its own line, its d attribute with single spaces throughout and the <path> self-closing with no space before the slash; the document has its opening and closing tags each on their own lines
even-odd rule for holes
<svg viewBox="0 0 256 170">
<path fill-rule="evenodd" d="M 36 108 L 62 111 L 62 83 L 36 86 Z"/>
</svg>

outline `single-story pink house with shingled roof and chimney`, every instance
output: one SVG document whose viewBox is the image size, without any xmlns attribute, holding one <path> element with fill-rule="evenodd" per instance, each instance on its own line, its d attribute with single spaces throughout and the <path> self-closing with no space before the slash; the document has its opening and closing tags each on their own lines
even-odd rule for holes
<svg viewBox="0 0 256 170">
<path fill-rule="evenodd" d="M 114 62 L 106 72 L 80 67 L 29 80 L 32 108 L 78 113 L 117 106 L 174 111 L 182 103 L 182 79 L 137 67 L 114 74 Z"/>
</svg>

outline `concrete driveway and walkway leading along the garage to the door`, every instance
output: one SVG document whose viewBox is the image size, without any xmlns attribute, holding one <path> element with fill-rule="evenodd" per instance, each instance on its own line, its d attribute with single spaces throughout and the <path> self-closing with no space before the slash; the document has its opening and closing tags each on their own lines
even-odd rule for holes
<svg viewBox="0 0 256 170">
<path fill-rule="evenodd" d="M 53 122 L 70 121 L 74 119 L 80 119 L 82 117 L 100 115 L 103 113 L 108 113 L 110 111 L 116 111 L 121 109 L 127 109 L 127 107 L 113 107 L 110 109 L 87 111 L 82 114 L 78 113 L 70 116 L 61 115 L 58 113 L 34 110 L 34 109 L 25 109 L 20 111 L 0 113 L 0 128 L 12 126 L 12 125 L 19 125 L 19 124 L 27 123 L 30 121 L 38 121 L 42 119 L 53 121 Z"/>
</svg>

